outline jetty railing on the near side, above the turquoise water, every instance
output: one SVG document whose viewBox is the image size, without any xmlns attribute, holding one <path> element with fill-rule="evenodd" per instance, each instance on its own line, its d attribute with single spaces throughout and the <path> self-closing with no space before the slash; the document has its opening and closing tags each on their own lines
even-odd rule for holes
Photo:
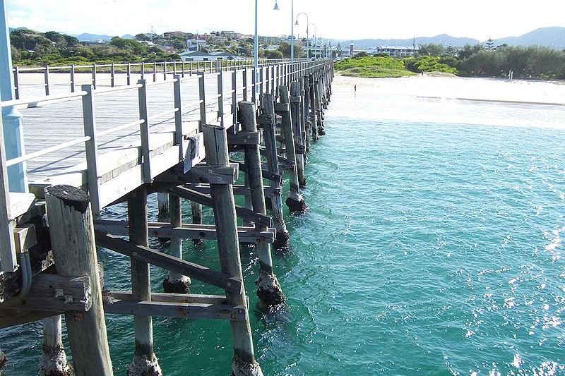
<svg viewBox="0 0 565 376">
<path fill-rule="evenodd" d="M 206 123 L 220 123 L 220 125 L 225 125 L 226 123 L 234 124 L 237 121 L 237 111 L 236 104 L 238 100 L 248 100 L 255 102 L 258 101 L 259 104 L 263 103 L 263 95 L 265 93 L 270 93 L 275 99 L 278 97 L 278 90 L 276 90 L 280 85 L 288 85 L 295 78 L 308 75 L 311 72 L 316 71 L 323 66 L 326 66 L 328 61 L 297 61 L 291 64 L 288 61 L 277 61 L 275 63 L 270 61 L 263 61 L 263 64 L 258 67 L 258 75 L 255 74 L 254 66 L 249 63 L 249 61 L 232 61 L 233 66 L 220 64 L 216 65 L 215 71 L 210 73 L 209 66 L 206 62 L 198 62 L 201 64 L 194 64 L 194 66 L 189 66 L 190 70 L 185 71 L 185 77 L 182 78 L 181 71 L 177 71 L 174 74 L 174 70 L 170 73 L 172 74 L 171 80 L 163 80 L 160 82 L 152 82 L 148 80 L 140 79 L 138 83 L 129 86 L 115 86 L 115 87 L 99 87 L 95 89 L 93 85 L 87 83 L 81 85 L 81 90 L 72 92 L 64 95 L 49 95 L 48 97 L 34 97 L 29 99 L 14 99 L 11 101 L 0 102 L 0 107 L 14 107 L 16 109 L 24 109 L 27 107 L 35 107 L 37 105 L 49 105 L 61 101 L 72 101 L 81 99 L 82 102 L 82 114 L 83 114 L 83 131 L 84 134 L 81 137 L 74 138 L 66 142 L 61 142 L 60 144 L 53 145 L 51 147 L 46 147 L 37 152 L 32 152 L 30 154 L 23 154 L 20 157 L 6 160 L 5 167 L 14 166 L 20 164 L 23 166 L 23 170 L 26 171 L 26 162 L 30 162 L 34 159 L 42 157 L 47 154 L 54 152 L 60 152 L 61 150 L 68 150 L 69 147 L 75 145 L 84 144 L 83 152 L 85 153 L 85 166 L 83 172 L 77 174 L 76 171 L 69 173 L 67 176 L 61 175 L 57 176 L 57 180 L 51 180 L 49 183 L 68 183 L 73 186 L 87 188 L 90 193 L 90 200 L 93 205 L 93 214 L 98 215 L 100 210 L 105 205 L 110 202 L 114 202 L 119 198 L 119 191 L 114 191 L 113 194 L 100 195 L 100 186 L 105 183 L 107 174 L 112 174 L 113 169 L 109 169 L 106 165 L 104 169 L 100 166 L 100 156 L 99 148 L 97 145 L 97 140 L 105 135 L 110 135 L 118 131 L 124 131 L 127 128 L 138 127 L 140 142 L 139 152 L 143 157 L 143 182 L 150 182 L 153 176 L 167 169 L 169 166 L 173 166 L 184 160 L 183 154 L 183 135 L 189 138 L 189 133 L 196 130 L 198 127 L 205 125 Z M 163 65 L 165 67 L 165 65 Z M 166 68 L 165 68 L 166 69 Z M 200 69 L 200 71 L 196 71 Z M 47 69 L 45 70 L 48 71 Z M 242 80 L 237 80 L 237 73 L 241 73 Z M 168 73 L 167 73 L 168 74 Z M 230 75 L 230 80 L 225 79 L 225 76 Z M 206 88 L 206 80 L 210 78 L 216 78 L 217 80 L 217 90 L 210 95 L 210 92 Z M 258 81 L 256 82 L 256 77 Z M 251 79 L 251 80 L 250 80 Z M 227 85 L 229 89 L 227 89 Z M 174 107 L 171 109 L 166 109 L 159 114 L 152 114 L 149 116 L 147 112 L 147 96 L 146 91 L 148 87 L 154 87 L 156 85 L 172 85 L 174 92 Z M 191 102 L 182 102 L 181 99 L 181 85 L 190 85 L 189 90 L 193 90 L 198 93 L 198 100 Z M 106 129 L 105 131 L 97 131 L 96 129 L 96 116 L 95 116 L 95 98 L 101 95 L 112 95 L 117 92 L 124 92 L 130 90 L 138 90 L 138 107 L 140 109 L 139 119 L 136 121 L 131 121 L 128 123 L 119 124 L 113 128 Z M 227 109 L 227 110 L 226 110 Z M 187 131 L 186 119 L 183 120 L 183 115 L 191 114 L 190 122 L 193 124 L 192 128 Z M 157 147 L 163 147 L 167 143 L 172 142 L 172 146 L 179 148 L 177 152 L 177 157 L 174 159 L 167 159 L 167 162 L 162 166 L 155 166 L 152 169 L 152 158 L 151 158 L 151 147 L 152 141 L 155 141 L 155 135 L 150 133 L 150 124 L 157 123 L 162 120 L 172 120 L 174 126 L 172 126 L 171 131 L 173 132 L 173 139 L 160 137 L 160 142 L 162 145 L 157 145 Z M 24 134 L 25 134 L 25 122 L 24 122 Z M 152 140 L 153 139 L 153 140 Z M 2 140 L 4 140 L 4 135 L 2 135 Z M 196 147 L 197 149 L 202 149 L 202 140 L 192 140 L 198 145 L 191 145 L 191 147 Z M 186 144 L 186 140 L 184 140 Z M 184 145 L 184 148 L 189 147 Z M 155 145 L 153 145 L 155 148 Z M 157 164 L 157 163 L 156 163 Z M 114 166 L 112 164 L 112 166 Z M 115 166 L 114 166 L 115 167 Z M 136 183 L 143 183 L 135 182 Z M 49 183 L 37 184 L 38 190 L 33 190 L 34 193 L 41 195 L 40 190 L 44 186 L 49 185 Z M 113 182 L 115 183 L 115 182 Z"/>
</svg>

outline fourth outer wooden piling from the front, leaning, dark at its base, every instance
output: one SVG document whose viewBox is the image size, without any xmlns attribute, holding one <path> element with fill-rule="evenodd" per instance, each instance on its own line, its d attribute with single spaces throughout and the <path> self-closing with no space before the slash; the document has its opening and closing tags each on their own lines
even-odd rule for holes
<svg viewBox="0 0 565 376">
<path fill-rule="evenodd" d="M 275 135 L 275 102 L 273 95 L 265 93 L 263 95 L 263 139 L 265 140 L 265 150 L 267 154 L 267 166 L 270 174 L 280 175 L 278 166 L 277 143 Z M 290 235 L 283 216 L 282 186 L 279 181 L 270 181 L 270 188 L 273 188 L 273 195 L 270 196 L 270 209 L 273 215 L 273 227 L 277 230 L 277 237 L 273 244 L 275 248 L 286 248 L 289 245 Z"/>
</svg>

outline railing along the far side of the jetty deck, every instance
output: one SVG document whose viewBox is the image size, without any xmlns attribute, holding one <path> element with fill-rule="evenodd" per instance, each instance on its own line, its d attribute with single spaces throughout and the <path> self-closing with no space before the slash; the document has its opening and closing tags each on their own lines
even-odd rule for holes
<svg viewBox="0 0 565 376">
<path fill-rule="evenodd" d="M 296 59 L 295 61 L 305 61 Z M 290 63 L 290 59 L 259 59 L 258 66 L 270 66 Z M 193 75 L 197 72 L 213 73 L 218 70 L 232 71 L 254 67 L 250 59 L 215 61 L 153 61 L 140 63 L 105 63 L 90 65 L 68 66 L 37 66 L 13 68 L 13 81 L 15 98 L 20 99 L 26 95 L 26 90 L 42 88 L 44 95 L 53 95 L 54 87 L 69 87 L 70 92 L 75 92 L 80 85 L 91 84 L 96 89 L 98 86 L 131 85 L 136 78 L 153 80 L 167 80 L 173 75 Z M 35 74 L 33 74 L 35 73 Z M 26 78 L 35 76 L 34 80 L 25 83 Z M 37 82 L 37 75 L 41 75 Z M 37 91 L 37 90 L 35 90 Z M 37 95 L 37 93 L 36 93 Z"/>
</svg>

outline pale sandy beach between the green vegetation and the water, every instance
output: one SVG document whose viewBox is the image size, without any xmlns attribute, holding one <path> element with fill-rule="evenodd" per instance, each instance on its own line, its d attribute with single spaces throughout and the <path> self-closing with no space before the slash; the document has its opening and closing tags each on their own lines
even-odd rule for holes
<svg viewBox="0 0 565 376">
<path fill-rule="evenodd" d="M 494 78 L 436 77 L 356 78 L 336 74 L 333 92 L 412 95 L 445 99 L 475 99 L 565 105 L 565 82 Z"/>
</svg>

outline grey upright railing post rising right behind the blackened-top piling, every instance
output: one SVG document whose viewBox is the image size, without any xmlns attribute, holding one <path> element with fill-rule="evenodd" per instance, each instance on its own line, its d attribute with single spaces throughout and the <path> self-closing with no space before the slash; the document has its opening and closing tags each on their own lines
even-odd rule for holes
<svg viewBox="0 0 565 376">
<path fill-rule="evenodd" d="M 96 117 L 92 85 L 81 85 L 83 95 L 83 128 L 84 135 L 90 140 L 85 142 L 86 176 L 88 194 L 92 203 L 93 216 L 100 216 L 100 185 L 98 182 L 98 145 L 96 140 Z"/>
</svg>

